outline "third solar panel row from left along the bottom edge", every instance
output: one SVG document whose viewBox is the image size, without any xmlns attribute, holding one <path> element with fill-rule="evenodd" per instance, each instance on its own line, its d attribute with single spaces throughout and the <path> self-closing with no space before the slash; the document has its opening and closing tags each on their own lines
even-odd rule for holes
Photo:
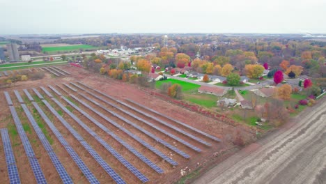
<svg viewBox="0 0 326 184">
<path fill-rule="evenodd" d="M 38 127 L 38 123 L 36 123 L 35 119 L 33 118 L 33 115 L 31 112 L 29 112 L 29 109 L 26 105 L 22 104 L 22 108 L 24 109 L 24 112 L 29 119 L 29 122 L 31 122 L 31 125 L 33 126 L 34 130 L 36 131 L 36 135 L 38 135 L 38 138 L 40 139 L 43 147 L 47 151 L 47 154 L 52 160 L 52 163 L 54 164 L 54 167 L 56 168 L 56 171 L 58 172 L 61 180 L 63 183 L 73 183 L 72 179 L 70 178 L 69 174 L 59 161 L 59 158 L 56 157 L 56 154 L 53 152 L 52 146 L 49 144 L 49 141 L 47 141 L 47 138 L 43 134 L 42 130 Z"/>
</svg>

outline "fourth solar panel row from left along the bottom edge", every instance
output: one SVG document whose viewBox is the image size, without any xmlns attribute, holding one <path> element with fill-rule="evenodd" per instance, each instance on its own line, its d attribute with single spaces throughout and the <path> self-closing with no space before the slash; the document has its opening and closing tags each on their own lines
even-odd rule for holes
<svg viewBox="0 0 326 184">
<path fill-rule="evenodd" d="M 40 106 L 38 106 L 38 103 L 32 102 L 32 104 L 36 108 L 36 110 L 38 111 L 38 113 L 40 114 L 40 116 L 43 118 L 43 120 L 45 121 L 45 123 L 47 123 L 47 125 L 49 126 L 49 128 L 52 130 L 52 132 L 54 133 L 54 135 L 56 136 L 56 138 L 60 141 L 60 143 L 62 144 L 62 146 L 65 148 L 65 150 L 68 152 L 68 154 L 70 155 L 70 157 L 72 158 L 72 160 L 74 160 L 74 162 L 77 164 L 77 166 L 79 167 L 79 169 L 81 170 L 81 172 L 84 174 L 84 176 L 86 176 L 87 180 L 90 183 L 100 183 L 95 178 L 95 176 L 91 173 L 91 171 L 88 169 L 88 167 L 86 166 L 86 164 L 81 160 L 81 158 L 79 158 L 79 155 L 77 155 L 77 153 L 72 149 L 72 147 L 70 146 L 70 144 L 68 144 L 68 142 L 65 141 L 65 139 L 63 138 L 63 136 L 61 135 L 61 133 L 59 132 L 59 130 L 56 129 L 56 127 L 49 120 L 49 118 L 47 117 L 47 115 L 42 111 L 42 109 L 40 108 Z"/>
</svg>

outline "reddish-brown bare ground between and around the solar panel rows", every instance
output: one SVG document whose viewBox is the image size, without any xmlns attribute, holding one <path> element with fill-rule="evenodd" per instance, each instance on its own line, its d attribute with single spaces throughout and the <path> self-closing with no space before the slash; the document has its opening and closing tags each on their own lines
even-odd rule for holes
<svg viewBox="0 0 326 184">
<path fill-rule="evenodd" d="M 63 137 L 68 144 L 72 146 L 72 148 L 78 153 L 81 160 L 83 160 L 86 166 L 91 170 L 98 181 L 101 183 L 114 183 L 113 179 L 100 167 L 100 164 L 96 162 L 96 160 L 86 151 L 86 149 L 81 146 L 79 141 L 73 137 L 73 135 L 68 131 L 67 128 L 59 121 L 58 118 L 52 114 L 52 112 L 45 107 L 45 105 L 38 100 L 36 97 L 36 93 L 34 93 L 31 88 L 35 87 L 38 91 L 45 97 L 45 100 L 49 102 L 50 105 L 63 116 L 65 121 L 67 121 L 72 128 L 74 128 L 81 137 L 85 139 L 85 141 L 93 147 L 93 149 L 104 159 L 107 164 L 118 173 L 121 178 L 126 183 L 141 183 L 141 181 L 132 174 L 121 162 L 119 162 L 114 156 L 107 151 L 94 137 L 92 137 L 84 128 L 79 125 L 76 121 L 74 121 L 67 113 L 56 105 L 56 103 L 49 98 L 44 91 L 40 89 L 40 86 L 44 86 L 47 91 L 54 95 L 54 98 L 59 100 L 64 107 L 70 109 L 72 114 L 75 114 L 80 120 L 87 125 L 91 130 L 96 132 L 98 137 L 102 138 L 107 144 L 109 144 L 112 148 L 114 148 L 120 155 L 123 156 L 130 164 L 136 167 L 142 174 L 144 174 L 150 181 L 148 183 L 175 183 L 181 178 L 180 171 L 184 169 L 185 174 L 189 174 L 196 169 L 202 169 L 210 165 L 212 162 L 221 162 L 224 160 L 228 155 L 233 154 L 235 151 L 238 150 L 238 147 L 233 145 L 233 140 L 238 134 L 241 134 L 242 139 L 245 142 L 252 142 L 256 137 L 256 132 L 252 132 L 249 128 L 238 126 L 234 127 L 232 125 L 216 121 L 212 118 L 208 118 L 206 116 L 202 116 L 197 114 L 196 112 L 191 112 L 187 109 L 183 109 L 177 105 L 173 105 L 169 102 L 161 100 L 160 98 L 156 98 L 150 95 L 150 89 L 141 89 L 136 85 L 127 84 L 123 82 L 116 81 L 114 79 L 109 79 L 107 77 L 103 77 L 100 75 L 92 74 L 87 70 L 83 70 L 81 68 L 75 68 L 70 66 L 63 66 L 59 67 L 67 70 L 72 75 L 68 75 L 67 77 L 53 77 L 52 75 L 46 75 L 44 79 L 40 79 L 37 81 L 28 81 L 28 82 L 17 82 L 15 86 L 11 86 L 6 89 L 0 89 L 0 128 L 8 128 L 10 133 L 10 140 L 13 146 L 13 152 L 15 154 L 15 159 L 17 162 L 18 171 L 20 173 L 20 178 L 23 178 L 23 183 L 35 183 L 35 178 L 33 176 L 33 172 L 29 167 L 28 159 L 26 158 L 26 154 L 24 152 L 24 147 L 22 146 L 22 142 L 20 140 L 19 135 L 13 133 L 15 130 L 15 123 L 13 123 L 13 118 L 11 118 L 11 114 L 6 104 L 6 99 L 3 95 L 3 91 L 8 91 L 10 93 L 10 97 L 13 100 L 14 106 L 16 107 L 17 113 L 20 115 L 22 123 L 24 123 L 27 127 L 30 127 L 30 130 L 26 132 L 26 135 L 31 141 L 31 145 L 33 147 L 34 152 L 37 155 L 37 158 L 40 162 L 40 166 L 42 171 L 45 174 L 45 178 L 49 183 L 61 183 L 59 175 L 56 173 L 56 170 L 49 160 L 49 156 L 46 153 L 45 149 L 42 147 L 40 140 L 36 136 L 35 130 L 31 126 L 31 123 L 26 118 L 24 112 L 20 109 L 20 103 L 18 102 L 13 90 L 16 89 L 22 95 L 22 98 L 25 100 L 26 105 L 29 107 L 30 111 L 33 113 L 33 116 L 37 117 L 38 113 L 34 111 L 33 105 L 29 102 L 26 95 L 23 93 L 22 89 L 28 89 L 29 93 L 33 96 L 33 98 L 37 99 L 38 105 L 45 111 L 47 116 L 49 116 L 50 120 L 54 123 L 55 127 L 61 132 Z M 70 82 L 75 82 L 79 86 L 83 87 L 85 90 L 78 89 L 76 86 L 72 86 Z M 79 84 L 80 82 L 81 84 Z M 68 87 L 64 86 L 63 83 L 68 84 L 69 86 L 77 89 L 78 91 L 72 91 Z M 88 89 L 86 86 L 82 84 L 86 84 L 86 86 L 91 87 Z M 116 139 L 113 139 L 107 132 L 104 132 L 102 128 L 98 125 L 95 125 L 90 119 L 86 118 L 81 112 L 77 109 L 69 105 L 68 102 L 63 100 L 59 95 L 54 93 L 47 85 L 52 85 L 56 90 L 58 90 L 65 98 L 71 100 L 79 109 L 86 112 L 90 116 L 92 116 L 96 121 L 102 123 L 105 128 L 109 129 L 111 132 L 114 132 L 118 137 L 123 139 L 127 144 L 135 148 L 139 153 L 143 156 L 148 158 L 151 162 L 157 165 L 164 170 L 164 174 L 158 174 L 153 169 L 151 169 L 146 163 L 141 161 L 137 158 L 132 152 L 128 151 L 125 146 L 119 143 Z M 56 86 L 58 85 L 58 86 Z M 101 91 L 111 97 L 115 98 L 116 100 L 121 100 L 121 102 L 125 102 L 127 105 L 132 106 L 132 108 L 127 107 L 126 105 L 122 105 L 121 103 L 117 102 L 116 100 L 111 100 L 107 98 L 105 95 L 95 92 L 93 89 Z M 91 95 L 95 94 L 98 97 L 104 99 L 104 101 L 100 100 L 99 98 L 95 98 L 95 96 Z M 74 95 L 79 100 L 82 100 L 91 108 L 82 105 L 81 102 L 78 102 L 71 95 Z M 84 98 L 86 97 L 86 98 Z M 89 99 L 89 100 L 88 100 Z M 199 134 L 198 132 L 194 132 L 189 128 L 185 128 L 183 125 L 180 125 L 171 119 L 164 118 L 159 116 L 153 112 L 150 112 L 148 109 L 139 107 L 138 105 L 132 104 L 132 102 L 127 101 L 127 99 L 133 100 L 145 107 L 153 109 L 157 112 L 165 114 L 171 118 L 174 118 L 178 121 L 183 123 L 187 123 L 187 125 L 191 125 L 194 128 L 197 128 L 203 132 L 206 132 L 210 135 L 218 137 L 221 139 L 221 142 L 213 141 L 212 139 L 205 137 L 204 135 Z M 91 101 L 93 102 L 91 102 Z M 95 102 L 95 103 L 94 103 Z M 102 108 L 104 107 L 104 108 Z M 118 107 L 118 108 L 117 108 Z M 105 110 L 106 109 L 106 110 Z M 135 109 L 139 109 L 137 112 Z M 95 111 L 94 111 L 95 110 Z M 113 116 L 111 113 L 117 114 L 118 116 Z M 146 141 L 150 146 L 153 146 L 155 149 L 167 155 L 172 160 L 178 162 L 178 165 L 173 167 L 171 164 L 162 160 L 157 154 L 153 153 L 152 151 L 148 150 L 143 144 L 139 141 L 136 141 L 126 132 L 124 132 L 121 128 L 118 128 L 113 123 L 107 121 L 105 118 L 96 114 L 95 112 L 100 112 L 114 121 L 117 125 L 120 125 L 122 128 L 125 128 L 133 135 L 136 135 L 143 141 Z M 130 116 L 132 114 L 133 116 Z M 146 114 L 150 116 L 155 116 L 155 118 L 150 118 L 146 116 Z M 119 116 L 125 118 L 119 118 Z M 137 116 L 138 118 L 135 118 Z M 131 122 L 127 123 L 127 121 Z M 148 124 L 144 122 L 148 122 Z M 202 139 L 203 141 L 208 142 L 211 146 L 205 146 L 201 144 L 199 141 L 195 141 L 192 138 L 189 138 L 187 135 L 183 135 L 178 130 L 170 128 L 164 123 L 168 123 L 169 125 L 173 125 L 175 128 L 179 128 L 194 137 Z M 77 164 L 72 162 L 70 155 L 65 151 L 65 148 L 60 144 L 59 140 L 56 139 L 54 133 L 47 124 L 40 118 L 40 123 L 44 125 L 45 130 L 47 131 L 47 137 L 49 140 L 52 140 L 52 148 L 54 152 L 58 156 L 59 160 L 62 162 L 63 167 L 68 171 L 68 174 L 72 178 L 74 183 L 87 183 L 86 177 L 81 173 Z M 136 128 L 138 127 L 138 128 Z M 153 139 L 149 135 L 144 134 L 142 131 L 147 131 L 152 133 L 159 139 L 166 141 L 166 143 L 178 148 L 180 151 L 187 153 L 190 156 L 189 159 L 183 158 L 183 156 L 179 155 L 175 151 L 172 151 L 170 148 L 167 148 L 159 141 Z M 167 135 L 167 132 L 169 135 Z M 196 146 L 197 148 L 201 149 L 201 153 L 194 151 L 189 146 L 182 144 L 180 141 L 176 140 L 171 136 L 177 137 L 178 139 L 182 139 L 187 141 L 192 146 Z M 3 158 L 3 146 L 0 145 L 0 183 L 8 183 L 8 174 L 6 169 L 6 161 Z"/>
</svg>

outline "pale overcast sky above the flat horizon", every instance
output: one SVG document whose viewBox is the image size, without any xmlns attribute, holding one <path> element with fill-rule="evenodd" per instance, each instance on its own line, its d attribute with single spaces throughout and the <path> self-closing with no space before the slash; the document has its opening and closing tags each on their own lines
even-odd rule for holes
<svg viewBox="0 0 326 184">
<path fill-rule="evenodd" d="M 326 0 L 0 0 L 1 34 L 326 33 Z"/>
</svg>

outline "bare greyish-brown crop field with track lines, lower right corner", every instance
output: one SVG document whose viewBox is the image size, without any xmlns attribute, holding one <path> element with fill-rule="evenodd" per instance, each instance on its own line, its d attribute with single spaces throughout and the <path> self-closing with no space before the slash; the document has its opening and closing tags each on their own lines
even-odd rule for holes
<svg viewBox="0 0 326 184">
<path fill-rule="evenodd" d="M 193 183 L 326 183 L 326 98 Z"/>
</svg>

